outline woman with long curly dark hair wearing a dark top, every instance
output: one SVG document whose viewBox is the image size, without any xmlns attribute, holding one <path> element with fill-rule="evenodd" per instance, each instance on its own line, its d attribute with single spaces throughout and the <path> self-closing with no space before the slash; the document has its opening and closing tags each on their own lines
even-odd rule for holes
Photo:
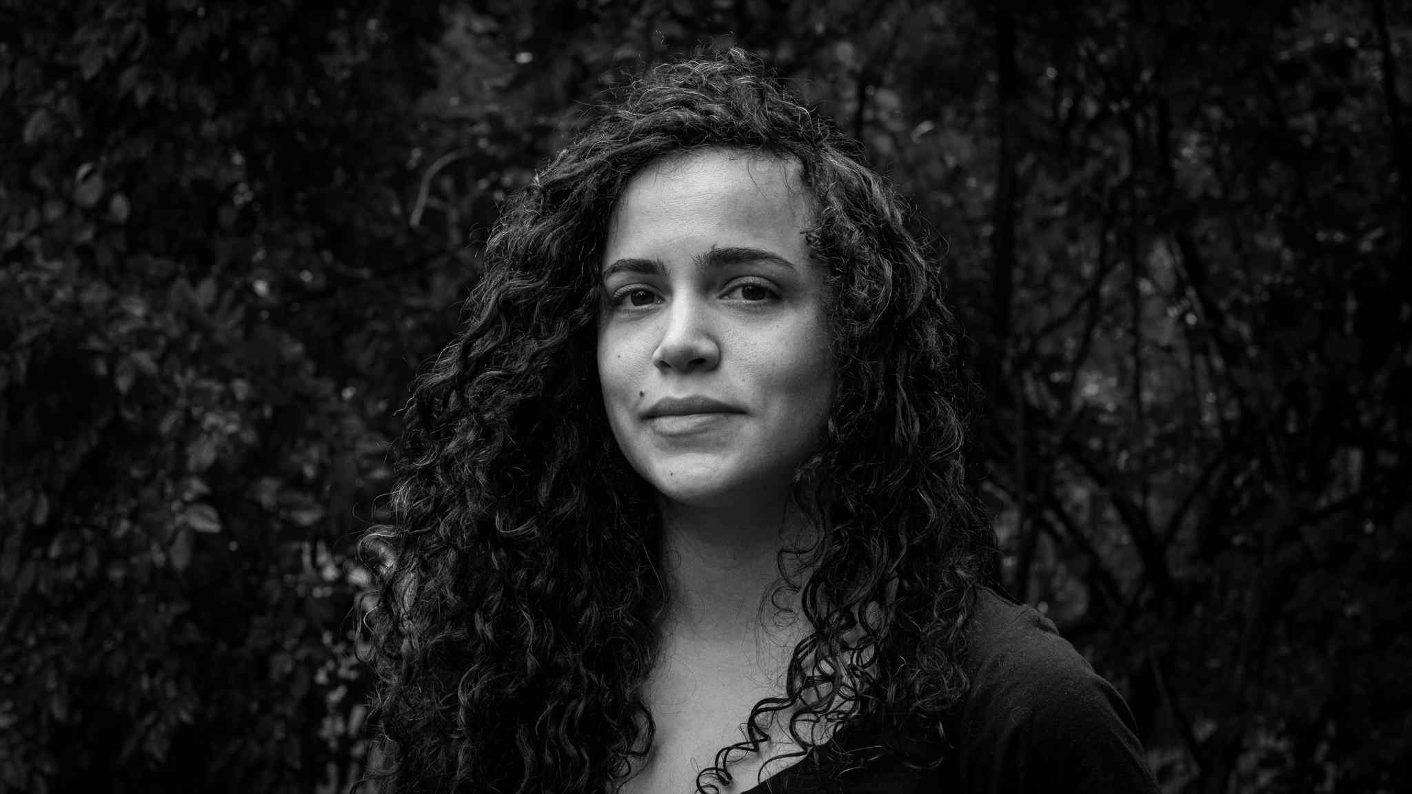
<svg viewBox="0 0 1412 794">
<path fill-rule="evenodd" d="M 751 57 L 606 109 L 466 309 L 369 538 L 387 791 L 1155 790 L 987 588 L 938 268 Z"/>
</svg>

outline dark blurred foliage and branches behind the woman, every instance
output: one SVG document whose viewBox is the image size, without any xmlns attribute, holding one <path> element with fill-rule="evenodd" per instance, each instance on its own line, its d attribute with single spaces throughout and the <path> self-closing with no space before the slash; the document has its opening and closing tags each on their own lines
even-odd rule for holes
<svg viewBox="0 0 1412 794">
<path fill-rule="evenodd" d="M 408 386 L 497 203 L 699 44 L 945 250 L 1008 585 L 1162 787 L 1412 788 L 1387 0 L 3 0 L 0 788 L 357 780 Z"/>
</svg>

